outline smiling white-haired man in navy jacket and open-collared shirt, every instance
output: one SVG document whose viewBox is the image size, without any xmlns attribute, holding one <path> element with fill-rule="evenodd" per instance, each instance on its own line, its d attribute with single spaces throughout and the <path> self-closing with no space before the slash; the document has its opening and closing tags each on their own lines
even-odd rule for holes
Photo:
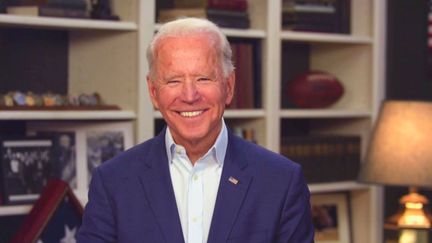
<svg viewBox="0 0 432 243">
<path fill-rule="evenodd" d="M 167 127 L 94 170 L 78 242 L 313 242 L 300 166 L 224 123 L 235 75 L 219 28 L 164 24 L 147 58 Z"/>
</svg>

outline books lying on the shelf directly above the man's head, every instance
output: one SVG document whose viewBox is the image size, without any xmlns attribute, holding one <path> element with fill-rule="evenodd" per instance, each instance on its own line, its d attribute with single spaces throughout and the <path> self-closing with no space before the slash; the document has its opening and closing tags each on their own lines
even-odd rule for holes
<svg viewBox="0 0 432 243">
<path fill-rule="evenodd" d="M 158 4 L 164 6 L 158 8 L 157 21 L 159 23 L 187 16 L 207 18 L 220 27 L 241 29 L 250 27 L 246 0 L 176 0 L 173 4 L 160 2 Z"/>
</svg>

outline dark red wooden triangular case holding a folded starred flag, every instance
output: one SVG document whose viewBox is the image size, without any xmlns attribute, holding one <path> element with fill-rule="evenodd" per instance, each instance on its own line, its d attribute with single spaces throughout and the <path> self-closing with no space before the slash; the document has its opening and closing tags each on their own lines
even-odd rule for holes
<svg viewBox="0 0 432 243">
<path fill-rule="evenodd" d="M 68 184 L 50 180 L 11 243 L 75 242 L 82 214 L 83 207 Z"/>
</svg>

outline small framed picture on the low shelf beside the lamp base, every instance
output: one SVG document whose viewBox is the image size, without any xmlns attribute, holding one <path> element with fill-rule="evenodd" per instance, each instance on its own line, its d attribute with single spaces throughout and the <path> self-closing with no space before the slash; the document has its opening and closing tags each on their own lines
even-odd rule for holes
<svg viewBox="0 0 432 243">
<path fill-rule="evenodd" d="M 312 194 L 311 207 L 315 227 L 315 242 L 351 242 L 348 198 L 346 194 Z"/>
</svg>

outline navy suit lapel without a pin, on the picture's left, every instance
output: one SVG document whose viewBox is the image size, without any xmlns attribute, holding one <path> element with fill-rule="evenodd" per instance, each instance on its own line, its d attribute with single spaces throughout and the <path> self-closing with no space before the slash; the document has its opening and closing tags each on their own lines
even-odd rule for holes
<svg viewBox="0 0 432 243">
<path fill-rule="evenodd" d="M 155 140 L 146 158 L 148 169 L 140 175 L 140 180 L 166 242 L 184 243 L 166 156 L 165 133 Z"/>
</svg>

